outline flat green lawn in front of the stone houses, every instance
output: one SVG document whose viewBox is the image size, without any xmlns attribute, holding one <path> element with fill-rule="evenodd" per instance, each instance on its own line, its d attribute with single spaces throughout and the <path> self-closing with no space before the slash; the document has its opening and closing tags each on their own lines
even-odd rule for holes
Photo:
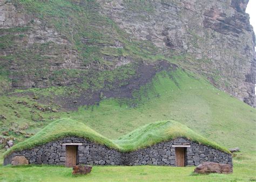
<svg viewBox="0 0 256 182">
<path fill-rule="evenodd" d="M 62 166 L 8 165 L 0 166 L 0 181 L 255 181 L 256 159 L 250 156 L 239 152 L 232 174 L 198 175 L 194 167 L 93 166 L 86 176 L 72 176 L 72 169 Z"/>
</svg>

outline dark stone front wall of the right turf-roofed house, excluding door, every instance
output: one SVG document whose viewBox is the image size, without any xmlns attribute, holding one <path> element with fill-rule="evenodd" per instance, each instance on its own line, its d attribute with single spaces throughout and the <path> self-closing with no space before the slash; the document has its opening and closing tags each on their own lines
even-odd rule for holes
<svg viewBox="0 0 256 182">
<path fill-rule="evenodd" d="M 175 148 L 172 145 L 191 145 L 185 149 L 185 165 L 197 166 L 203 162 L 215 162 L 232 165 L 232 156 L 228 153 L 213 149 L 209 146 L 194 143 L 184 138 L 170 142 L 161 142 L 150 148 L 125 153 L 124 165 L 176 165 Z"/>
</svg>

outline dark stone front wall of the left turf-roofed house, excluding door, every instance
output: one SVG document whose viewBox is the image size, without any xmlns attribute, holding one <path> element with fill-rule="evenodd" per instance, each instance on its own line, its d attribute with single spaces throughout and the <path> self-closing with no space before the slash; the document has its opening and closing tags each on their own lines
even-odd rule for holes
<svg viewBox="0 0 256 182">
<path fill-rule="evenodd" d="M 31 150 L 12 153 L 4 159 L 4 165 L 11 163 L 15 156 L 25 156 L 30 164 L 56 164 L 65 165 L 66 145 L 63 143 L 83 143 L 78 146 L 77 163 L 91 165 L 119 165 L 120 152 L 109 149 L 107 146 L 89 142 L 84 138 L 65 137 L 58 141 L 36 146 Z"/>
</svg>

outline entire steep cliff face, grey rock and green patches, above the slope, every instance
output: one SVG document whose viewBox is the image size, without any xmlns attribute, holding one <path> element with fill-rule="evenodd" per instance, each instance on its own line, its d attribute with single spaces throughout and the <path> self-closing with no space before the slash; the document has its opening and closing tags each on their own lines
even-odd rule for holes
<svg viewBox="0 0 256 182">
<path fill-rule="evenodd" d="M 125 78 L 127 86 L 143 78 L 137 75 L 143 65 L 171 59 L 252 106 L 256 64 L 247 3 L 0 0 L 0 93 L 76 83 L 98 97 L 99 90 L 120 87 L 106 71 L 122 74 L 118 82 Z M 137 71 L 124 73 L 126 65 Z M 150 70 L 152 76 L 163 68 Z M 84 88 L 96 85 L 102 72 L 103 86 Z"/>
</svg>

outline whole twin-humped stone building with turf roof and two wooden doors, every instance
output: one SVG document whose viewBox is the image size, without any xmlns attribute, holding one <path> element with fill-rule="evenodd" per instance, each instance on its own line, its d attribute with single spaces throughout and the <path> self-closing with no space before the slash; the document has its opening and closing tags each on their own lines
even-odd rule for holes
<svg viewBox="0 0 256 182">
<path fill-rule="evenodd" d="M 6 151 L 4 165 L 16 156 L 24 156 L 30 164 L 66 166 L 194 166 L 202 162 L 232 165 L 227 149 L 174 121 L 147 124 L 111 140 L 83 123 L 61 119 Z"/>
</svg>

